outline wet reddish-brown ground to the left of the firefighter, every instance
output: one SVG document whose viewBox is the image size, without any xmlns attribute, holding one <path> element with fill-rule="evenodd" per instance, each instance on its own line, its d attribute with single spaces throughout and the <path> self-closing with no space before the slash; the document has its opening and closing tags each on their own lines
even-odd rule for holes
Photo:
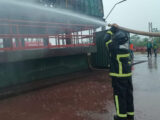
<svg viewBox="0 0 160 120">
<path fill-rule="evenodd" d="M 107 71 L 0 101 L 0 120 L 107 120 L 114 105 Z"/>
</svg>

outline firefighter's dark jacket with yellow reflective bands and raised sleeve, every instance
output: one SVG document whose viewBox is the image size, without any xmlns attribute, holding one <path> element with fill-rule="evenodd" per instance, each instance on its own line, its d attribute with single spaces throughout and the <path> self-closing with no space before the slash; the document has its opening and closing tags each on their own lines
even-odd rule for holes
<svg viewBox="0 0 160 120">
<path fill-rule="evenodd" d="M 118 42 L 112 40 L 114 33 L 109 30 L 105 36 L 106 49 L 109 51 L 110 58 L 110 76 L 114 77 L 130 77 L 131 60 L 130 51 L 120 48 Z"/>
</svg>

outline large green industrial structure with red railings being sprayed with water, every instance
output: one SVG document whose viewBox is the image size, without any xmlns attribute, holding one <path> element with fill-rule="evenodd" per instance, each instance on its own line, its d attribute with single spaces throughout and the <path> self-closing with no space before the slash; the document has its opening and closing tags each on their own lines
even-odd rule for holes
<svg viewBox="0 0 160 120">
<path fill-rule="evenodd" d="M 57 12 L 60 9 L 103 22 L 102 0 L 0 4 L 0 89 L 89 69 L 87 54 L 96 52 L 95 30 L 100 25 L 77 21 Z"/>
</svg>

